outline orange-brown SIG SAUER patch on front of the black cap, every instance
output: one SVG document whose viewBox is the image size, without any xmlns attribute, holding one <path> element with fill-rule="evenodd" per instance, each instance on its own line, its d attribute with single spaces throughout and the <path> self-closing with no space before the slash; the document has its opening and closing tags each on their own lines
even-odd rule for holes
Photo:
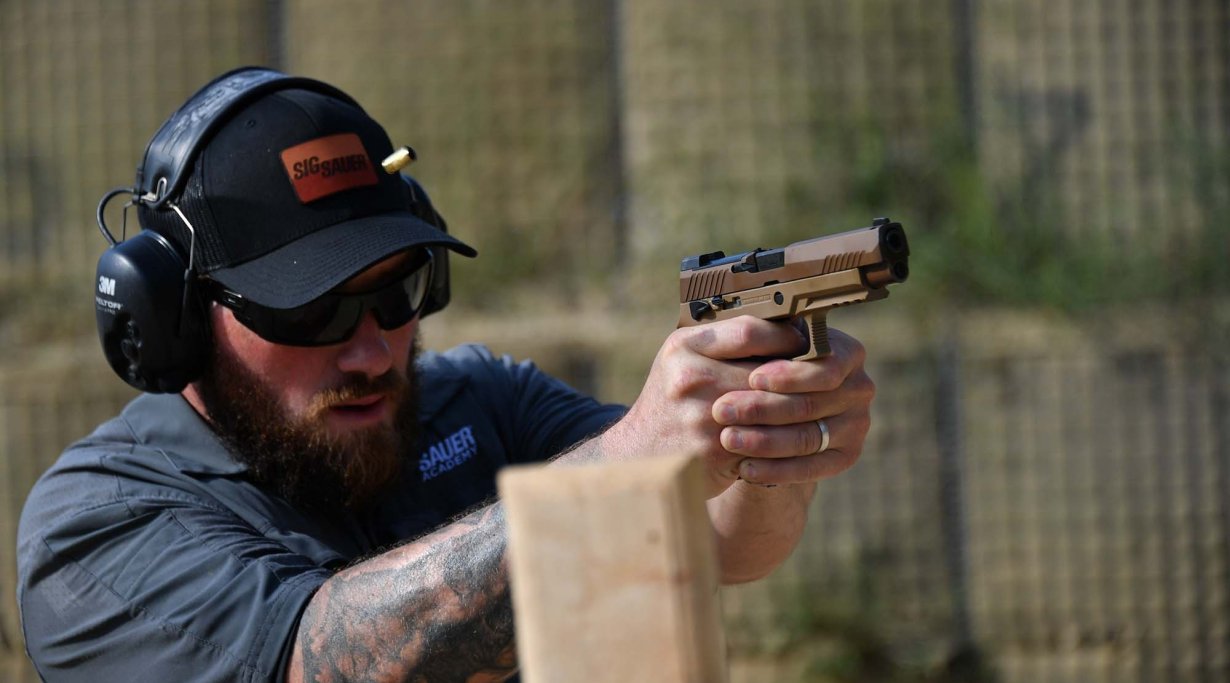
<svg viewBox="0 0 1230 683">
<path fill-rule="evenodd" d="M 282 151 L 282 165 L 303 203 L 376 185 L 376 171 L 354 133 L 316 138 Z"/>
</svg>

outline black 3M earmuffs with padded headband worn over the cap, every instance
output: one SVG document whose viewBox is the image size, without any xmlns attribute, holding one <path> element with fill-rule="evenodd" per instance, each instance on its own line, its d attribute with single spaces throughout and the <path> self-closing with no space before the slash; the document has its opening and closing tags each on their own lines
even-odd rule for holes
<svg viewBox="0 0 1230 683">
<path fill-rule="evenodd" d="M 235 111 L 283 89 L 314 90 L 359 107 L 341 90 L 312 79 L 256 66 L 229 71 L 205 84 L 159 128 L 137 170 L 137 186 L 112 190 L 98 202 L 98 229 L 111 245 L 98 258 L 95 278 L 98 340 L 116 374 L 141 391 L 182 391 L 200 377 L 209 356 L 209 316 L 193 287 L 196 230 L 176 206 L 197 153 Z M 446 230 L 423 188 L 402 177 L 410 210 Z M 133 204 L 175 212 L 188 229 L 188 254 L 153 230 L 129 239 L 122 234 L 122 241 L 116 240 L 103 212 L 111 199 L 124 193 L 130 194 L 125 219 Z M 435 277 L 423 315 L 440 310 L 449 300 L 448 250 L 432 249 Z"/>
</svg>

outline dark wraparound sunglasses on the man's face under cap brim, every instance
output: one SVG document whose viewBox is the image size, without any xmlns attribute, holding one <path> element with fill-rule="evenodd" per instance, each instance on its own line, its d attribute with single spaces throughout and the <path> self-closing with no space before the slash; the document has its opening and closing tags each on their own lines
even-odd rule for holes
<svg viewBox="0 0 1230 683">
<path fill-rule="evenodd" d="M 261 338 L 285 346 L 328 346 L 351 338 L 370 310 L 381 330 L 410 322 L 422 310 L 432 283 L 432 252 L 419 250 L 389 284 L 369 292 L 327 292 L 301 306 L 274 309 L 215 286 L 214 300 Z"/>
</svg>

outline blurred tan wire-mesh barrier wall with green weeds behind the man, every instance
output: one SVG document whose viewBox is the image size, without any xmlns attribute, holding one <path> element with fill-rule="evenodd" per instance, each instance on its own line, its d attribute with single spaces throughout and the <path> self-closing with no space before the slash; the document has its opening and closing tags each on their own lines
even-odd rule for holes
<svg viewBox="0 0 1230 683">
<path fill-rule="evenodd" d="M 736 683 L 1230 679 L 1225 0 L 0 0 L 0 679 L 36 679 L 26 492 L 133 395 L 96 202 L 244 64 L 418 150 L 481 252 L 428 346 L 605 400 L 681 257 L 905 225 L 910 281 L 830 318 L 878 385 L 865 454 L 723 591 Z"/>
</svg>

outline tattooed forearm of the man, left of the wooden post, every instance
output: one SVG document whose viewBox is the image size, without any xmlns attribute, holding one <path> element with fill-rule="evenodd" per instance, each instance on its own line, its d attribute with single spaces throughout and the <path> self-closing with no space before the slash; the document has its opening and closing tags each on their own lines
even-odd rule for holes
<svg viewBox="0 0 1230 683">
<path fill-rule="evenodd" d="M 494 682 L 517 671 L 504 513 L 483 507 L 326 581 L 290 681 Z"/>
</svg>

